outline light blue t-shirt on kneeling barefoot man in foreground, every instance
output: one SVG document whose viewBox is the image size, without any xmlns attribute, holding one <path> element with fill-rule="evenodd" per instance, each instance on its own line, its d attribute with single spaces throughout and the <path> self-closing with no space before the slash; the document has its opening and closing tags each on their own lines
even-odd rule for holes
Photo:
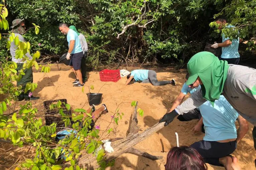
<svg viewBox="0 0 256 170">
<path fill-rule="evenodd" d="M 214 107 L 207 101 L 199 108 L 205 125 L 205 141 L 237 138 L 235 122 L 239 114 L 223 95 L 215 100 Z"/>
</svg>

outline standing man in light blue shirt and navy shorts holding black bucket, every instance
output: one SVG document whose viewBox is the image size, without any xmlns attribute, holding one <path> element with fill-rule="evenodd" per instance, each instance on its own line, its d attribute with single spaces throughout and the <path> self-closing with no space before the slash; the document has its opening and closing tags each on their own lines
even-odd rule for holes
<svg viewBox="0 0 256 170">
<path fill-rule="evenodd" d="M 69 51 L 67 54 L 67 60 L 70 60 L 70 66 L 72 71 L 76 75 L 76 81 L 73 82 L 76 87 L 83 87 L 83 78 L 81 73 L 81 62 L 83 58 L 83 50 L 80 45 L 80 41 L 77 33 L 70 29 L 67 24 L 59 24 L 59 30 L 62 34 L 67 35 L 67 41 L 69 43 Z M 71 58 L 70 58 L 71 57 Z"/>
</svg>

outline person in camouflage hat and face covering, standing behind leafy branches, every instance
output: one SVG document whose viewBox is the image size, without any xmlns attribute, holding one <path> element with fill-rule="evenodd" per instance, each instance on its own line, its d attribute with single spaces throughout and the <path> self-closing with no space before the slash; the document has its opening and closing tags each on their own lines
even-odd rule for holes
<svg viewBox="0 0 256 170">
<path fill-rule="evenodd" d="M 19 41 L 21 42 L 26 42 L 25 39 L 23 38 L 22 34 L 24 34 L 26 31 L 26 27 L 25 27 L 25 22 L 24 19 L 15 19 L 12 21 L 12 26 L 11 26 L 12 30 L 11 32 L 14 33 L 15 37 L 18 36 Z M 17 50 L 17 46 L 14 44 L 14 41 L 11 42 L 11 46 L 10 46 L 10 53 L 12 56 L 12 61 L 17 63 L 17 72 L 19 72 L 19 70 L 21 70 L 23 68 L 23 63 L 25 63 L 26 61 L 24 59 L 16 59 L 15 58 L 15 51 Z M 32 59 L 32 57 L 30 56 L 29 53 L 25 54 L 29 60 Z M 22 101 L 23 99 L 25 100 L 36 100 L 39 99 L 39 97 L 34 97 L 32 96 L 32 93 L 30 91 L 27 91 L 26 93 L 24 93 L 24 89 L 26 87 L 26 84 L 28 82 L 33 82 L 33 71 L 32 68 L 27 68 L 24 70 L 25 75 L 22 76 L 22 78 L 17 81 L 17 86 L 22 86 L 22 92 L 21 94 L 18 96 L 18 100 Z"/>
</svg>

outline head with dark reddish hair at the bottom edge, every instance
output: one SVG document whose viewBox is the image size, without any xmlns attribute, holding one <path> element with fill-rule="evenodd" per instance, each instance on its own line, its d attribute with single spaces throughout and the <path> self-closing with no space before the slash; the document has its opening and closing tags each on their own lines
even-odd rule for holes
<svg viewBox="0 0 256 170">
<path fill-rule="evenodd" d="M 202 156 L 188 146 L 171 148 L 164 166 L 165 170 L 207 170 Z"/>
</svg>

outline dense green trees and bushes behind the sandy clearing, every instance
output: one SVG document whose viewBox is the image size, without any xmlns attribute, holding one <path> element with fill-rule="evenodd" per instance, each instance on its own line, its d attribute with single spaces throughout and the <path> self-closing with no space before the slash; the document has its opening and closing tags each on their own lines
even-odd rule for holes
<svg viewBox="0 0 256 170">
<path fill-rule="evenodd" d="M 90 63 L 101 61 L 183 63 L 204 50 L 205 43 L 220 41 L 220 32 L 211 24 L 223 14 L 236 26 L 244 40 L 255 37 L 256 1 L 246 0 L 7 0 L 11 18 L 25 18 L 41 26 L 31 47 L 42 56 L 67 52 L 60 22 L 76 25 L 85 34 Z M 9 20 L 10 21 L 10 20 Z M 34 32 L 25 36 L 31 40 Z M 38 44 L 41 44 L 39 47 Z M 250 46 L 251 43 L 248 43 Z M 1 44 L 0 44 L 1 45 Z M 2 48 L 1 48 L 2 49 Z M 1 50 L 6 58 L 6 52 Z M 8 53 L 7 53 L 8 54 Z"/>
</svg>

